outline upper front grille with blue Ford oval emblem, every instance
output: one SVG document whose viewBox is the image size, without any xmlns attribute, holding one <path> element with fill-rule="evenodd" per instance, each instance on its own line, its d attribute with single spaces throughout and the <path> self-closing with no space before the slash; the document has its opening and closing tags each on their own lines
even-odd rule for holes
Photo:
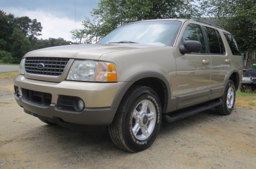
<svg viewBox="0 0 256 169">
<path fill-rule="evenodd" d="M 32 75 L 59 77 L 69 60 L 62 57 L 26 57 L 25 72 Z"/>
</svg>

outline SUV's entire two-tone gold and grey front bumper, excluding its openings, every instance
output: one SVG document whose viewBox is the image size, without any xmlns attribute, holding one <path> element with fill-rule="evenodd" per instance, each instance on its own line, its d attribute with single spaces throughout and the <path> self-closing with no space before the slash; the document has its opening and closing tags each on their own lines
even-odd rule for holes
<svg viewBox="0 0 256 169">
<path fill-rule="evenodd" d="M 116 108 L 110 108 L 110 106 L 122 84 L 122 82 L 89 83 L 74 81 L 53 83 L 27 79 L 23 75 L 18 75 L 14 79 L 14 85 L 18 87 L 19 91 L 24 88 L 52 94 L 52 101 L 49 106 L 41 106 L 27 101 L 22 97 L 22 92 L 20 92 L 20 96 L 15 95 L 16 102 L 24 108 L 25 112 L 34 116 L 38 115 L 50 119 L 58 118 L 64 122 L 82 125 L 111 124 Z M 60 110 L 57 108 L 59 95 L 80 97 L 84 100 L 86 108 L 82 112 Z"/>
</svg>

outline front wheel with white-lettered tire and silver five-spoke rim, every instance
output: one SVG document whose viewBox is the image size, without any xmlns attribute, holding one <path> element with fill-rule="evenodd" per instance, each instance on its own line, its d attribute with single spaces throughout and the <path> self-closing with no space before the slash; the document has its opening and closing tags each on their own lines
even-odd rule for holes
<svg viewBox="0 0 256 169">
<path fill-rule="evenodd" d="M 125 94 L 109 126 L 110 137 L 121 149 L 142 151 L 156 139 L 161 122 L 156 92 L 146 86 L 134 86 Z"/>
</svg>

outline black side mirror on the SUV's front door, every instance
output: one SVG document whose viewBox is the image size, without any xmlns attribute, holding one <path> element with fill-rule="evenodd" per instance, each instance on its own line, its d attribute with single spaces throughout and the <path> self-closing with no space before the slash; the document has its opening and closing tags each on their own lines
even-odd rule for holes
<svg viewBox="0 0 256 169">
<path fill-rule="evenodd" d="M 183 43 L 183 41 L 182 41 Z M 200 52 L 202 50 L 202 44 L 200 41 L 186 41 L 185 44 L 179 45 L 180 53 L 191 53 L 191 52 Z"/>
</svg>

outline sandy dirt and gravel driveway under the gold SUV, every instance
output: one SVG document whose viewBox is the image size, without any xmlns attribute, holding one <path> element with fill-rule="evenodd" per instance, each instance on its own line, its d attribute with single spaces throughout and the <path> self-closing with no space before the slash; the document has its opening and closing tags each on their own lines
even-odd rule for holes
<svg viewBox="0 0 256 169">
<path fill-rule="evenodd" d="M 163 122 L 153 145 L 139 153 L 118 149 L 108 132 L 48 126 L 23 112 L 12 82 L 0 80 L 1 169 L 255 169 L 256 110 L 230 116 L 208 110 Z"/>
</svg>

